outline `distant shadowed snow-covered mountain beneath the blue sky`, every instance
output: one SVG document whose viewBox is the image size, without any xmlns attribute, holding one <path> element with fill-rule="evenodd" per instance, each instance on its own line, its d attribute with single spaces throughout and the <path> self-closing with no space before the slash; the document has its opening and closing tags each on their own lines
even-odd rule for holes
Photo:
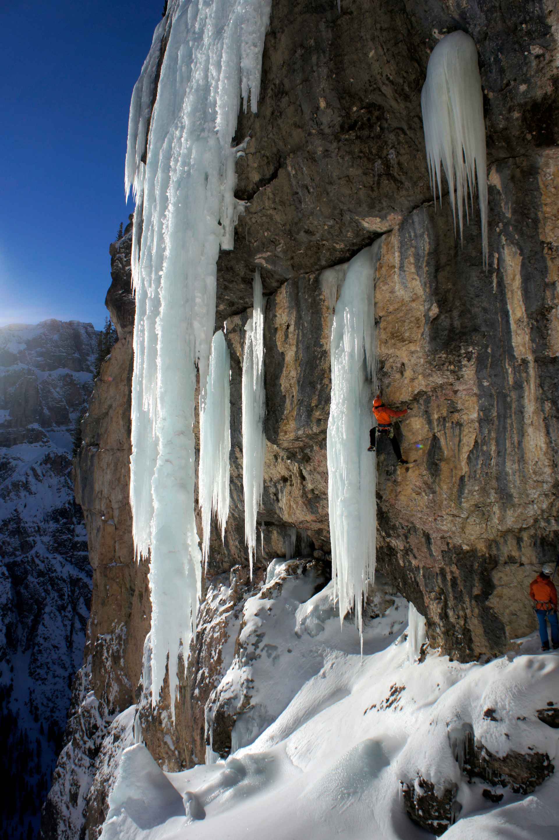
<svg viewBox="0 0 559 840">
<path fill-rule="evenodd" d="M 54 319 L 0 328 L 0 766 L 14 840 L 38 830 L 83 657 L 91 568 L 71 459 L 97 335 Z"/>
</svg>

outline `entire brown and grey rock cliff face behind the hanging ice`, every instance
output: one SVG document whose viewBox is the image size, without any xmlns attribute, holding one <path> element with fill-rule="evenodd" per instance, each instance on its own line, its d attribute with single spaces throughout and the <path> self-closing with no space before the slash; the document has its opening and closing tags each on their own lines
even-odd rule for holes
<svg viewBox="0 0 559 840">
<path fill-rule="evenodd" d="M 217 290 L 217 326 L 227 322 L 232 360 L 232 507 L 225 545 L 212 533 L 200 631 L 180 664 L 175 723 L 168 692 L 151 710 L 149 643 L 138 706 L 138 729 L 168 769 L 203 761 L 207 746 L 227 754 L 239 715 L 256 708 L 247 688 L 254 676 L 232 697 L 227 674 L 242 671 L 243 644 L 251 644 L 249 601 L 259 593 L 274 601 L 260 589 L 270 560 L 290 550 L 305 556 L 298 575 L 312 554 L 328 564 L 335 296 L 325 293 L 322 272 L 374 239 L 383 238 L 375 281 L 379 381 L 386 402 L 411 407 L 397 433 L 414 461 L 397 470 L 391 451 L 379 450 L 378 568 L 386 585 L 426 617 L 432 648 L 468 661 L 502 653 L 534 629 L 527 584 L 538 564 L 555 559 L 556 8 L 504 9 L 496 0 L 483 10 L 468 0 L 341 6 L 338 13 L 333 2 L 275 0 L 259 113 L 239 116 L 237 139 L 250 133 L 251 140 L 236 194 L 250 204 L 235 249 L 220 256 Z M 455 29 L 478 45 L 487 271 L 477 215 L 457 242 L 449 203 L 434 207 L 426 170 L 421 86 L 431 50 Z M 129 247 L 128 234 L 113 249 L 107 305 L 119 341 L 84 424 L 76 480 L 94 568 L 88 690 L 105 704 L 107 721 L 136 699 L 149 629 L 147 569 L 133 562 L 128 507 Z M 255 265 L 267 296 L 267 445 L 251 584 L 240 394 Z M 107 810 L 98 790 L 86 811 L 90 837 Z"/>
</svg>

